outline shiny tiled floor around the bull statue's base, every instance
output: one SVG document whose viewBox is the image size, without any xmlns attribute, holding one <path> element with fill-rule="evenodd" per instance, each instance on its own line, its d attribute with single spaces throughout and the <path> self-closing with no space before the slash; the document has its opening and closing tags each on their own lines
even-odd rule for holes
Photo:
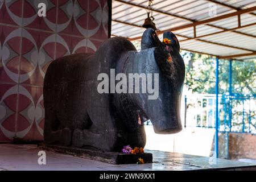
<svg viewBox="0 0 256 182">
<path fill-rule="evenodd" d="M 233 160 L 214 159 L 204 156 L 173 152 L 150 151 L 153 163 L 115 165 L 71 155 L 46 151 L 46 165 L 38 164 L 39 148 L 36 145 L 0 144 L 0 171 L 3 170 L 91 170 L 91 171 L 137 171 L 137 170 L 256 170 L 256 164 Z"/>
</svg>

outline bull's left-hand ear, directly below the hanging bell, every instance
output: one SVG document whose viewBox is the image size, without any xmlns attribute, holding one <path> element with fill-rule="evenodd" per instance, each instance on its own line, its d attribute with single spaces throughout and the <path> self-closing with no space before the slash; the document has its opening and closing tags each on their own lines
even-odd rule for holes
<svg viewBox="0 0 256 182">
<path fill-rule="evenodd" d="M 141 49 L 148 49 L 152 47 L 159 47 L 162 46 L 163 43 L 159 40 L 158 36 L 156 35 L 156 32 L 153 28 L 147 28 L 143 32 L 142 38 L 141 38 Z"/>
</svg>

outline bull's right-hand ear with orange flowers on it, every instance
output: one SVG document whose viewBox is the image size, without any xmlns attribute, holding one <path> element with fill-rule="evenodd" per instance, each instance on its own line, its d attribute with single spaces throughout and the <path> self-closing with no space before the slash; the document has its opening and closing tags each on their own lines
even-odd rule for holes
<svg viewBox="0 0 256 182">
<path fill-rule="evenodd" d="M 170 31 L 164 32 L 163 44 L 180 52 L 180 43 L 177 37 Z"/>
</svg>

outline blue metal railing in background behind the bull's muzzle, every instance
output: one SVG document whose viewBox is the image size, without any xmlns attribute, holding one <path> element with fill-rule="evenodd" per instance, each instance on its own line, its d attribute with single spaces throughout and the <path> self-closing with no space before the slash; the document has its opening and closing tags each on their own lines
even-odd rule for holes
<svg viewBox="0 0 256 182">
<path fill-rule="evenodd" d="M 216 94 L 185 96 L 184 125 L 214 128 Z M 218 94 L 218 131 L 256 134 L 256 94 Z"/>
</svg>

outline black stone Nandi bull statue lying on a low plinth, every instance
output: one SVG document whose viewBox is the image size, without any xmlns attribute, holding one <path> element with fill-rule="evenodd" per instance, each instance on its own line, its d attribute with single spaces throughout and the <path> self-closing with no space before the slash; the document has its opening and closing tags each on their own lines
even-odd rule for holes
<svg viewBox="0 0 256 182">
<path fill-rule="evenodd" d="M 179 132 L 185 76 L 179 51 L 174 34 L 165 32 L 162 43 L 148 28 L 142 36 L 140 52 L 129 40 L 116 37 L 102 43 L 94 54 L 79 53 L 53 61 L 44 78 L 45 142 L 120 152 L 127 144 L 144 147 L 143 122 L 148 119 L 155 133 Z M 127 77 L 130 73 L 155 75 L 156 82 L 146 84 L 158 88 L 158 93 L 131 93 L 130 85 L 122 85 L 127 92 L 117 93 L 111 84 L 104 85 L 108 88 L 102 86 L 109 93 L 99 93 L 102 80 L 98 76 L 105 73 L 113 77 L 113 69 L 115 75 L 123 73 Z M 136 89 L 134 83 L 132 86 Z"/>
</svg>

